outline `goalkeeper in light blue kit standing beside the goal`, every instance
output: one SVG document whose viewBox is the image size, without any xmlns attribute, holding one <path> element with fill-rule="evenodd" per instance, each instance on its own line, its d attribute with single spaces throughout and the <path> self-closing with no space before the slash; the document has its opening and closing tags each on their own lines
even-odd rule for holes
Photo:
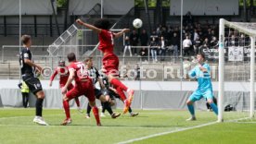
<svg viewBox="0 0 256 144">
<path fill-rule="evenodd" d="M 187 121 L 195 121 L 195 109 L 193 103 L 199 101 L 201 98 L 205 98 L 207 102 L 211 105 L 212 111 L 218 115 L 218 108 L 213 102 L 213 93 L 211 85 L 211 70 L 208 64 L 204 63 L 205 56 L 204 54 L 197 54 L 198 66 L 195 66 L 189 73 L 190 78 L 197 78 L 198 80 L 198 89 L 190 95 L 186 105 L 188 108 L 191 117 Z"/>
</svg>

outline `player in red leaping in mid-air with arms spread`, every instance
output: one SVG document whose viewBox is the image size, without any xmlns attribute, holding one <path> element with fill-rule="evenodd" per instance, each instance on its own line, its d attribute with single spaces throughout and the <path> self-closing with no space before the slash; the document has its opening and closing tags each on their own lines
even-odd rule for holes
<svg viewBox="0 0 256 144">
<path fill-rule="evenodd" d="M 102 59 L 102 64 L 105 69 L 105 73 L 114 88 L 118 91 L 121 96 L 122 101 L 124 102 L 123 114 L 126 114 L 134 98 L 134 90 L 127 88 L 119 80 L 119 58 L 114 54 L 114 38 L 119 38 L 123 33 L 128 32 L 129 29 L 123 29 L 118 33 L 113 33 L 109 30 L 110 22 L 107 18 L 100 18 L 96 20 L 96 23 L 93 25 L 84 23 L 81 19 L 76 20 L 77 23 L 83 25 L 84 27 L 94 30 L 98 33 L 99 45 L 98 49 L 104 54 Z M 129 95 L 128 99 L 124 94 L 126 91 Z"/>
</svg>

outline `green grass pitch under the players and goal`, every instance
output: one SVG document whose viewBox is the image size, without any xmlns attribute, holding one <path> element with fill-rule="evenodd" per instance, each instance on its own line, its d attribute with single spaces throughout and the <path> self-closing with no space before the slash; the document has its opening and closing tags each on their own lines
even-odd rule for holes
<svg viewBox="0 0 256 144">
<path fill-rule="evenodd" d="M 121 112 L 121 111 L 119 111 Z M 93 114 L 84 118 L 76 110 L 71 110 L 72 124 L 59 126 L 64 119 L 62 110 L 45 109 L 45 121 L 50 126 L 32 123 L 34 108 L 0 109 L 0 143 L 33 144 L 83 144 L 121 143 L 134 138 L 144 138 L 163 132 L 171 132 L 193 126 L 201 126 L 216 120 L 210 112 L 197 111 L 198 121 L 186 122 L 187 111 L 143 110 L 137 117 L 128 114 L 117 119 L 109 115 L 101 118 L 101 127 L 96 126 Z M 154 138 L 146 138 L 133 143 L 166 144 L 255 144 L 256 123 L 221 123 L 187 129 Z"/>
</svg>

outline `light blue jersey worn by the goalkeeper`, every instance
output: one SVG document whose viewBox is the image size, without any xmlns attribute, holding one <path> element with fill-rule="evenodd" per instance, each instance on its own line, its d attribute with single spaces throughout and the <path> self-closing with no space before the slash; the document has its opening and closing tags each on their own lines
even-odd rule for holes
<svg viewBox="0 0 256 144">
<path fill-rule="evenodd" d="M 202 66 L 207 69 L 207 72 L 202 72 L 199 66 L 195 66 L 189 71 L 188 75 L 190 78 L 198 79 L 198 90 L 212 90 L 210 66 L 208 64 L 203 64 Z"/>
</svg>

